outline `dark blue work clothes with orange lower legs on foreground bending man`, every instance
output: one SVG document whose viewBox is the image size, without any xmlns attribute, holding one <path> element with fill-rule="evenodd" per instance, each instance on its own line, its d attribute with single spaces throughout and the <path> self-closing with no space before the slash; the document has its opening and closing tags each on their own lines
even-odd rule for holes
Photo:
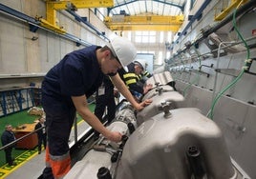
<svg viewBox="0 0 256 179">
<path fill-rule="evenodd" d="M 70 169 L 68 140 L 75 119 L 71 96 L 90 97 L 100 86 L 103 73 L 91 46 L 67 54 L 42 82 L 42 105 L 46 112 L 48 147 L 44 178 L 61 178 Z"/>
</svg>

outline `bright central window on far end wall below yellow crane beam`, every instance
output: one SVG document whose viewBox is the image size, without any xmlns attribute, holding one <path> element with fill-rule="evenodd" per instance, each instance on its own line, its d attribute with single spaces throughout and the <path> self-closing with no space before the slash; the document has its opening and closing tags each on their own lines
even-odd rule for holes
<svg viewBox="0 0 256 179">
<path fill-rule="evenodd" d="M 136 43 L 156 43 L 156 31 L 136 31 Z"/>
</svg>

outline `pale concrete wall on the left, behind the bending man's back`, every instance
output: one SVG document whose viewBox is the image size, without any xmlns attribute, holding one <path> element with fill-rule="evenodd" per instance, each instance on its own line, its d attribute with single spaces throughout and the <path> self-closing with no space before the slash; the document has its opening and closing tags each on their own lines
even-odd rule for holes
<svg viewBox="0 0 256 179">
<path fill-rule="evenodd" d="M 2 0 L 1 3 L 13 10 L 20 11 L 31 17 L 42 16 L 46 19 L 46 4 L 41 0 Z M 106 36 L 113 32 L 96 17 L 93 10 L 78 10 L 80 16 L 88 17 L 88 21 L 100 31 L 105 31 Z M 88 42 L 103 46 L 106 41 L 86 25 L 75 20 L 65 10 L 56 13 L 58 25 L 69 34 Z M 67 40 L 57 33 L 49 30 L 30 31 L 29 24 L 18 20 L 6 13 L 0 12 L 0 83 L 1 89 L 13 86 L 23 87 L 30 82 L 40 84 L 41 79 L 3 79 L 3 75 L 45 73 L 50 70 L 63 56 L 84 48 L 76 47 L 75 42 Z M 32 40 L 36 37 L 37 40 Z M 2 75 L 2 76 L 1 76 Z M 29 82 L 28 82 L 29 81 Z"/>
</svg>

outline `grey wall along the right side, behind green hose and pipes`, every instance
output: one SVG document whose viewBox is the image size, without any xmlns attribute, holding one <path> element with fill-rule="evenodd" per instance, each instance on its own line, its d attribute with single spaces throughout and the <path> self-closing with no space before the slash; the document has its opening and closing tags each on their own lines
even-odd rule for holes
<svg viewBox="0 0 256 179">
<path fill-rule="evenodd" d="M 200 30 L 207 25 L 213 26 L 218 23 L 214 21 L 214 13 L 216 8 L 221 7 L 222 1 L 211 1 L 209 6 L 203 10 L 202 19 L 192 24 L 192 27 L 187 30 L 187 35 L 181 37 L 179 44 L 174 46 L 172 52 L 177 53 L 177 50 L 184 48 L 184 44 L 188 40 L 191 42 L 196 40 L 200 36 Z M 200 6 L 195 7 L 197 10 L 199 8 Z M 193 11 L 195 12 L 196 10 Z M 191 12 L 191 14 L 193 14 L 193 12 Z M 255 11 L 251 11 L 236 19 L 237 27 L 244 38 L 252 37 L 252 30 L 255 30 L 256 27 L 255 17 Z M 222 41 L 240 41 L 237 33 L 232 30 L 232 27 L 233 24 L 230 22 L 222 29 L 216 31 Z M 247 43 L 248 45 L 253 45 L 256 43 L 256 40 L 254 39 Z M 171 71 L 176 80 L 177 89 L 185 95 L 185 101 L 178 106 L 196 107 L 201 109 L 204 115 L 207 115 L 212 105 L 213 90 L 216 89 L 216 94 L 226 88 L 227 85 L 235 79 L 233 75 L 216 73 L 215 70 L 217 66 L 219 66 L 218 69 L 231 70 L 231 72 L 235 71 L 237 74 L 245 65 L 247 56 L 245 45 L 241 44 L 236 46 L 236 49 L 240 51 L 227 51 L 227 53 L 220 58 L 216 56 L 203 58 L 203 54 L 210 52 L 211 49 L 209 49 L 205 43 L 201 42 L 197 49 L 198 53 L 195 52 L 195 49 L 192 47 L 192 51 L 186 50 L 184 53 L 178 55 L 177 58 L 173 59 L 172 62 L 169 62 L 169 65 L 166 65 L 165 69 Z M 194 53 L 192 53 L 193 51 Z M 250 58 L 256 58 L 255 49 L 250 49 L 249 52 Z M 200 56 L 201 62 L 198 56 Z M 253 72 L 256 72 L 255 63 L 254 61 L 254 66 L 251 68 Z M 204 73 L 197 72 L 200 64 L 205 66 L 211 66 L 213 64 L 213 67 L 203 67 L 202 71 Z M 205 73 L 208 73 L 209 76 Z M 213 116 L 213 120 L 224 132 L 231 157 L 251 178 L 256 178 L 255 87 L 256 76 L 244 73 L 236 85 L 226 90 L 224 96 L 217 101 Z M 249 104 L 248 102 L 252 102 L 253 104 Z"/>
</svg>

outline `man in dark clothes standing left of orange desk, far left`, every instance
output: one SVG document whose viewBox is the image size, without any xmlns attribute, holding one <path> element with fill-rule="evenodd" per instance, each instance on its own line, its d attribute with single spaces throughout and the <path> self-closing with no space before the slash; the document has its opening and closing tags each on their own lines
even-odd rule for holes
<svg viewBox="0 0 256 179">
<path fill-rule="evenodd" d="M 2 142 L 3 147 L 10 144 L 14 140 L 15 140 L 15 135 L 12 131 L 12 126 L 7 125 L 5 131 L 3 132 L 2 136 L 1 136 L 1 142 Z M 6 154 L 6 162 L 8 163 L 9 166 L 16 166 L 14 159 L 11 158 L 11 151 L 14 148 L 14 146 L 15 146 L 15 144 L 11 145 L 7 149 L 4 149 L 5 154 Z"/>
</svg>

